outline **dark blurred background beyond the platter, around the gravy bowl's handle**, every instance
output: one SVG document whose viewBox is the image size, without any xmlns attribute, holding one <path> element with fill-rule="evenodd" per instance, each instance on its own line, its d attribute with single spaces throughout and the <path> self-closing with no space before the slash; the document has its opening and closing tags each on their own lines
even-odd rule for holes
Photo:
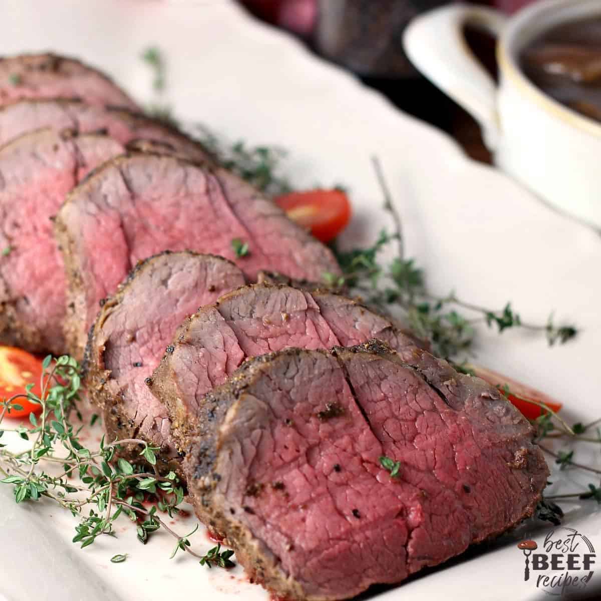
<svg viewBox="0 0 601 601">
<path fill-rule="evenodd" d="M 490 162 L 477 123 L 419 75 L 404 55 L 412 17 L 453 0 L 240 0 L 255 16 L 301 38 L 319 55 L 352 70 L 398 108 L 444 129 L 469 156 Z M 480 0 L 511 14 L 532 0 Z M 496 77 L 495 40 L 467 29 L 466 40 Z"/>
</svg>

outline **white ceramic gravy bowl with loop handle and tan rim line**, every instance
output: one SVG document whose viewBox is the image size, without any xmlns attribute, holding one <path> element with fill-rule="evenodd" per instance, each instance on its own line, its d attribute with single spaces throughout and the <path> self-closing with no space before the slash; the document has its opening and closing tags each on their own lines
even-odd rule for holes
<svg viewBox="0 0 601 601">
<path fill-rule="evenodd" d="M 557 209 L 601 228 L 601 123 L 552 99 L 519 67 L 520 53 L 540 34 L 587 17 L 601 17 L 601 0 L 544 0 L 509 18 L 457 4 L 414 19 L 404 47 L 480 123 L 497 166 Z M 465 25 L 497 35 L 498 85 L 465 43 Z"/>
</svg>

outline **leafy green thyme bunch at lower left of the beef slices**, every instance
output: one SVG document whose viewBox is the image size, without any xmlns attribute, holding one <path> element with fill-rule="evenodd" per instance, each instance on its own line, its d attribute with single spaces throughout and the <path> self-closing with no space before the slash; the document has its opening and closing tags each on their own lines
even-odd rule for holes
<svg viewBox="0 0 601 601">
<path fill-rule="evenodd" d="M 15 432 L 32 444 L 30 449 L 17 453 L 0 445 L 0 483 L 13 486 L 17 503 L 46 497 L 71 511 L 73 516 L 79 516 L 73 542 L 81 548 L 92 545 L 103 534 L 114 534 L 115 520 L 124 514 L 135 524 L 141 543 L 147 543 L 151 534 L 162 528 L 177 539 L 174 554 L 183 549 L 202 560 L 205 556 L 192 551 L 189 542 L 198 526 L 182 537 L 159 515 L 159 511 L 169 517 L 178 513 L 184 491 L 174 472 L 162 475 L 157 470 L 158 447 L 140 439 L 107 443 L 102 438 L 98 450 L 82 444 L 79 433 L 83 424 L 75 426 L 75 416 L 82 419 L 76 404 L 80 386 L 75 359 L 47 356 L 43 361 L 40 396 L 32 392 L 31 384 L 26 386 L 26 394 L 2 401 L 0 437 L 5 432 Z M 31 429 L 4 427 L 5 415 L 10 415 L 12 409 L 22 409 L 17 402 L 19 398 L 41 406 L 40 416 L 29 415 Z M 123 445 L 138 445 L 139 460 L 130 462 L 117 457 Z M 75 477 L 79 480 L 73 480 Z M 155 504 L 148 509 L 143 505 L 147 501 Z M 124 561 L 125 557 L 115 555 L 111 561 Z"/>
</svg>

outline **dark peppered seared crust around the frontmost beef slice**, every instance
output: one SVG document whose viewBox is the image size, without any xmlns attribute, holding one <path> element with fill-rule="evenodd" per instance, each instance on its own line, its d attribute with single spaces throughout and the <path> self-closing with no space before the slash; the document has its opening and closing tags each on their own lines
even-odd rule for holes
<svg viewBox="0 0 601 601">
<path fill-rule="evenodd" d="M 228 379 L 227 383 L 207 394 L 198 419 L 198 436 L 183 462 L 184 472 L 188 476 L 189 494 L 194 502 L 195 510 L 200 520 L 211 531 L 224 537 L 227 544 L 235 549 L 237 560 L 245 568 L 246 573 L 252 581 L 264 585 L 274 596 L 282 597 L 289 601 L 307 600 L 308 596 L 306 591 L 303 590 L 302 585 L 293 578 L 286 576 L 279 565 L 279 558 L 275 557 L 261 540 L 257 540 L 249 529 L 236 519 L 235 515 L 227 511 L 227 508 L 216 506 L 213 503 L 212 495 L 218 482 L 221 480 L 221 475 L 218 472 L 221 424 L 229 421 L 230 413 L 236 412 L 237 404 L 243 401 L 242 397 L 245 390 L 259 379 L 261 374 L 269 370 L 270 364 L 274 359 L 282 355 L 298 355 L 304 352 L 300 349 L 287 349 L 278 353 L 269 353 L 268 355 L 248 359 Z M 441 394 L 436 386 L 429 382 L 421 371 L 416 370 L 414 366 L 406 364 L 398 353 L 377 340 L 371 340 L 365 344 L 350 348 L 337 347 L 329 352 L 323 350 L 311 352 L 331 353 L 337 357 L 343 370 L 345 369 L 344 357 L 348 356 L 349 353 L 368 353 L 384 356 L 392 362 L 403 365 L 403 367 L 417 371 L 428 386 L 435 389 L 437 394 Z M 446 362 L 441 361 L 440 363 L 443 373 L 448 372 L 448 374 L 453 374 L 455 381 L 451 386 L 465 386 L 474 390 L 484 391 L 489 395 L 495 395 L 495 391 L 490 389 L 490 386 L 483 382 L 483 380 L 457 374 Z M 350 386 L 350 389 L 354 396 L 355 392 L 352 390 L 352 386 Z M 355 400 L 357 399 L 355 398 Z M 515 409 L 512 410 L 517 413 Z M 522 421 L 525 421 L 524 418 L 522 418 Z M 532 464 L 529 465 L 531 469 L 542 469 L 548 473 L 545 460 L 540 451 L 529 455 L 532 456 L 528 459 Z M 534 513 L 541 496 L 542 490 L 535 492 L 529 499 L 529 504 L 523 511 L 522 516 L 512 523 L 508 523 L 499 531 L 490 532 L 486 538 L 496 537 L 502 534 L 502 532 L 507 531 L 507 529 L 516 526 L 523 519 L 530 517 Z M 474 540 L 472 542 L 481 542 L 481 540 Z M 332 597 L 311 594 L 310 599 L 311 601 L 331 601 Z"/>
</svg>

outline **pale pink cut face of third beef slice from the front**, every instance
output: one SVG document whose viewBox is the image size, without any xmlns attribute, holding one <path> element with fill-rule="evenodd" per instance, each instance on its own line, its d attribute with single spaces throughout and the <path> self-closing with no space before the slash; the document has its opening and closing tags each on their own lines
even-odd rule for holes
<svg viewBox="0 0 601 601">
<path fill-rule="evenodd" d="M 151 375 L 178 325 L 201 305 L 244 284 L 242 272 L 218 257 L 161 254 L 132 276 L 121 302 L 109 310 L 93 344 L 105 347 L 106 383 L 121 399 L 122 419 L 158 446 L 171 447 L 165 407 L 148 390 Z"/>
</svg>

